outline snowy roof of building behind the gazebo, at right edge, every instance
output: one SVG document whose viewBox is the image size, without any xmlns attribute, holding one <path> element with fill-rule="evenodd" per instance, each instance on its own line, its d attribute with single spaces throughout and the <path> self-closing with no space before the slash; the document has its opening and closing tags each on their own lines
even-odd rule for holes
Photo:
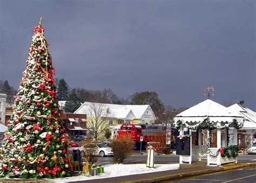
<svg viewBox="0 0 256 183">
<path fill-rule="evenodd" d="M 228 109 L 244 116 L 245 121 L 242 127 L 243 129 L 256 129 L 256 112 L 242 106 L 240 103 L 235 103 L 228 107 Z"/>
</svg>

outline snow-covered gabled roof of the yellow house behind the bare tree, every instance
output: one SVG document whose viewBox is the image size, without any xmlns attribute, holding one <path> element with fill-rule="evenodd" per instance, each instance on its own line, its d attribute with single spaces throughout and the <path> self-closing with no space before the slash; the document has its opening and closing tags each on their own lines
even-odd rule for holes
<svg viewBox="0 0 256 183">
<path fill-rule="evenodd" d="M 74 113 L 83 114 L 86 113 L 91 102 L 84 102 Z M 150 105 L 119 105 L 119 104 L 104 104 L 104 108 L 109 108 L 113 112 L 114 117 L 116 118 L 126 118 L 130 116 L 131 119 L 141 119 L 147 109 L 151 110 L 152 116 L 154 119 L 154 113 Z M 131 117 L 134 116 L 134 117 Z"/>
</svg>

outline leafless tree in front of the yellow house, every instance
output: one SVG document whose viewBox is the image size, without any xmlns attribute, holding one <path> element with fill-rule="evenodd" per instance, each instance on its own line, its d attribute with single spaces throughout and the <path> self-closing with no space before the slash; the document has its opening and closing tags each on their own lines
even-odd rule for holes
<svg viewBox="0 0 256 183">
<path fill-rule="evenodd" d="M 104 103 L 90 102 L 87 102 L 84 110 L 87 115 L 86 127 L 93 133 L 94 138 L 97 140 L 109 128 L 109 121 L 112 118 L 111 111 Z"/>
</svg>

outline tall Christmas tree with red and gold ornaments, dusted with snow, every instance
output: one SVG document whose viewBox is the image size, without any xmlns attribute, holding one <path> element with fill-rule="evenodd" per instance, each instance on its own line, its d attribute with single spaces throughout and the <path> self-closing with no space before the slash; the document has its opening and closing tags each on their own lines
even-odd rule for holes
<svg viewBox="0 0 256 183">
<path fill-rule="evenodd" d="M 58 178 L 73 172 L 42 19 L 34 31 L 2 142 L 2 178 Z"/>
</svg>

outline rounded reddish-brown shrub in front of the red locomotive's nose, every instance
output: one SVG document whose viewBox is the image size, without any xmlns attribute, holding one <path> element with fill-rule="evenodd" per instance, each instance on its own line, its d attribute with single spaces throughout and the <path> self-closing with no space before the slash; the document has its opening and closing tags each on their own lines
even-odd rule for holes
<svg viewBox="0 0 256 183">
<path fill-rule="evenodd" d="M 134 147 L 135 143 L 130 136 L 119 135 L 118 138 L 115 138 L 112 142 L 114 163 L 124 163 L 127 156 L 132 154 Z"/>
</svg>

